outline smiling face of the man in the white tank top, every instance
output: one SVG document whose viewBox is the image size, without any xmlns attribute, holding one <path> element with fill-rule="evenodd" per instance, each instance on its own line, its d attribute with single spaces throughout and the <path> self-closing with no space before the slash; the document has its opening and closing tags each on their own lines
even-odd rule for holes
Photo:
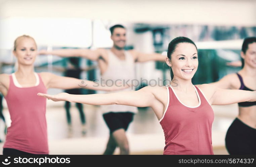
<svg viewBox="0 0 256 167">
<path fill-rule="evenodd" d="M 113 34 L 111 35 L 111 39 L 114 42 L 114 47 L 117 49 L 123 49 L 125 47 L 126 42 L 126 30 L 121 27 L 117 27 L 114 29 Z"/>
</svg>

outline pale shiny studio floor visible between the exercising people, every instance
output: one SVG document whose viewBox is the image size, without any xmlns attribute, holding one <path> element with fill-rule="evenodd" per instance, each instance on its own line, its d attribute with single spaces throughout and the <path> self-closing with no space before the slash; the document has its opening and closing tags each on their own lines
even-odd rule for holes
<svg viewBox="0 0 256 167">
<path fill-rule="evenodd" d="M 5 108 L 3 114 L 10 125 L 9 113 Z M 108 140 L 109 130 L 104 123 L 99 106 L 84 105 L 87 133 L 83 136 L 79 112 L 72 104 L 72 133 L 68 133 L 64 102 L 47 101 L 47 128 L 50 154 L 102 154 Z M 215 119 L 212 126 L 212 143 L 214 154 L 228 154 L 224 138 L 227 128 L 238 114 L 237 104 L 212 106 Z M 0 131 L 3 124 L 0 124 Z M 163 130 L 151 108 L 139 109 L 134 121 L 127 131 L 131 154 L 163 154 Z M 4 139 L 0 134 L 0 139 Z M 0 154 L 3 143 L 0 143 Z M 115 154 L 119 150 L 116 149 Z"/>
</svg>

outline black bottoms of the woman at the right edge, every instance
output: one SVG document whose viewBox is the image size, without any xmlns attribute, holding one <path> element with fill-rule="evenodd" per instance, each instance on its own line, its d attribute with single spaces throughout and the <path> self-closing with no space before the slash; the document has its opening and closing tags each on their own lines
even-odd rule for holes
<svg viewBox="0 0 256 167">
<path fill-rule="evenodd" d="M 227 130 L 225 142 L 230 155 L 256 154 L 256 129 L 236 118 Z"/>
</svg>

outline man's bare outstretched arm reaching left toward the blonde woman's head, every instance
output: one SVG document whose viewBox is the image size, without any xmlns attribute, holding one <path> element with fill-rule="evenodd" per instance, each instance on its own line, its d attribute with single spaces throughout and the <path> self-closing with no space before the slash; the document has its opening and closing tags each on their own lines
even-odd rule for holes
<svg viewBox="0 0 256 167">
<path fill-rule="evenodd" d="M 59 49 L 59 50 L 40 50 L 39 54 L 52 54 L 61 57 L 84 57 L 90 60 L 97 60 L 101 56 L 102 49 Z"/>
</svg>

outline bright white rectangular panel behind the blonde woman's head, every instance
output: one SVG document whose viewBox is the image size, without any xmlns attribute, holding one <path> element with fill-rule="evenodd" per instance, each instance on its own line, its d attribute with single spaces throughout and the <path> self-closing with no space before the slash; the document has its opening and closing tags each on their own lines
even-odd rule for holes
<svg viewBox="0 0 256 167">
<path fill-rule="evenodd" d="M 38 45 L 89 47 L 91 20 L 84 18 L 11 17 L 0 20 L 0 49 L 11 49 L 20 35 Z"/>
</svg>

